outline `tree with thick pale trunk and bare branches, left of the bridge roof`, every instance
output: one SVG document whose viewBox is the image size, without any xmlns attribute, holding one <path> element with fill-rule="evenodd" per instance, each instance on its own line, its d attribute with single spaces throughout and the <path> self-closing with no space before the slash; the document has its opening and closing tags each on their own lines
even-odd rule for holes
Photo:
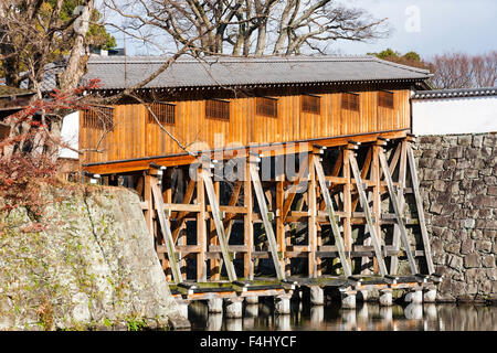
<svg viewBox="0 0 497 353">
<path fill-rule="evenodd" d="M 33 90 L 34 100 L 46 98 L 43 85 L 47 77 L 55 78 L 53 88 L 71 92 L 85 73 L 88 58 L 86 34 L 95 0 L 82 0 L 78 11 L 67 20 L 61 17 L 64 4 L 64 0 L 52 3 L 44 0 L 0 2 L 1 73 L 8 86 Z M 62 55 L 65 55 L 66 63 L 56 67 L 53 63 Z M 40 111 L 33 110 L 31 116 L 23 117 L 22 122 L 19 115 L 0 122 L 10 127 L 9 139 L 19 140 L 20 137 L 18 147 L 30 138 L 41 146 L 33 149 L 33 153 L 44 150 L 56 156 L 54 150 L 59 147 L 53 142 L 60 140 L 62 116 L 46 111 L 43 105 L 41 107 Z M 41 121 L 33 124 L 35 115 L 41 117 Z M 34 137 L 31 136 L 33 126 L 36 126 Z M 10 149 L 3 158 L 11 158 L 13 152 L 15 150 Z"/>
</svg>

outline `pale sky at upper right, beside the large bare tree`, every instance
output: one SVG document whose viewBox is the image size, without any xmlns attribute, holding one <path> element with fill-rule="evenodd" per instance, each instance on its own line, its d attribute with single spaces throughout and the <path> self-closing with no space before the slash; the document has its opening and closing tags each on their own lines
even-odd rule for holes
<svg viewBox="0 0 497 353">
<path fill-rule="evenodd" d="M 337 43 L 345 54 L 392 47 L 430 57 L 447 51 L 497 50 L 497 0 L 348 0 L 376 18 L 389 18 L 393 33 L 374 44 Z M 417 21 L 419 20 L 419 21 Z"/>
</svg>

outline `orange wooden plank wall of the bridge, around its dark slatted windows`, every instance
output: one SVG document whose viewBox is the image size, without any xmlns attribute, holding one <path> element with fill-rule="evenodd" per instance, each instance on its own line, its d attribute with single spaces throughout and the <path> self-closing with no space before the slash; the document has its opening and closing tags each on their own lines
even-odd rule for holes
<svg viewBox="0 0 497 353">
<path fill-rule="evenodd" d="M 278 98 L 277 118 L 256 115 L 254 97 L 232 98 L 229 99 L 230 121 L 205 118 L 204 99 L 169 100 L 177 105 L 176 124 L 165 125 L 165 128 L 190 150 L 409 129 L 410 90 L 393 92 L 393 110 L 378 106 L 378 92 L 359 92 L 359 113 L 341 109 L 341 93 L 318 93 L 321 97 L 321 114 L 318 115 L 300 111 L 300 95 L 290 89 L 279 90 L 278 95 L 271 95 Z M 147 109 L 137 104 L 115 106 L 114 130 L 101 146 L 105 152 L 86 153 L 82 162 L 183 153 L 157 124 L 148 121 L 147 116 Z M 81 148 L 93 148 L 101 136 L 102 131 L 83 128 L 80 124 Z"/>
</svg>

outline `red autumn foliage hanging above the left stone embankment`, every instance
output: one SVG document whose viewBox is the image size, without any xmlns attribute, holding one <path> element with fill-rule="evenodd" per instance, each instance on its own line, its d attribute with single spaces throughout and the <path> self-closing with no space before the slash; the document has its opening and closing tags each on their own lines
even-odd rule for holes
<svg viewBox="0 0 497 353">
<path fill-rule="evenodd" d="M 89 109 L 92 103 L 83 93 L 97 87 L 98 81 L 92 81 L 72 92 L 54 90 L 4 119 L 11 129 L 20 129 L 22 133 L 0 141 L 0 213 L 25 207 L 32 221 L 41 217 L 45 201 L 39 186 L 59 182 L 55 153 L 66 147 L 60 136 L 52 133 L 51 125 L 68 111 Z M 40 231 L 43 225 L 34 222 L 30 229 Z M 0 234 L 1 231 L 0 226 Z"/>
</svg>

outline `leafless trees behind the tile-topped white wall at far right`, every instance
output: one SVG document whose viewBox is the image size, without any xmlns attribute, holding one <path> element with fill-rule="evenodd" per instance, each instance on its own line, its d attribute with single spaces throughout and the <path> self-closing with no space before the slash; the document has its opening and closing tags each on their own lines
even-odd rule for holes
<svg viewBox="0 0 497 353">
<path fill-rule="evenodd" d="M 445 53 L 430 62 L 436 88 L 494 87 L 497 79 L 497 52 L 483 55 Z"/>
</svg>

